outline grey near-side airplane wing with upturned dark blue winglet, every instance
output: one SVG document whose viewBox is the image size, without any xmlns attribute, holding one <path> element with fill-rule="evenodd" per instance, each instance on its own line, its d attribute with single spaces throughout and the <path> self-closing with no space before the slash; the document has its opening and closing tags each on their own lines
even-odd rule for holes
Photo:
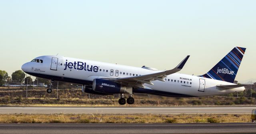
<svg viewBox="0 0 256 134">
<path fill-rule="evenodd" d="M 126 77 L 126 78 L 103 78 L 105 80 L 111 80 L 117 83 L 120 83 L 122 85 L 126 85 L 126 86 L 131 86 L 131 87 L 142 87 L 145 88 L 143 84 L 150 84 L 150 85 L 154 85 L 152 83 L 152 81 L 154 80 L 160 80 L 165 82 L 164 78 L 166 78 L 168 75 L 170 74 L 174 74 L 178 71 L 180 71 L 183 66 L 185 65 L 185 63 L 187 62 L 189 58 L 189 55 L 186 56 L 186 58 L 184 58 L 184 60 L 182 60 L 182 62 L 180 62 L 180 64 L 178 64 L 178 66 L 176 66 L 175 68 L 171 69 L 171 70 L 166 70 L 163 72 L 157 72 L 157 73 L 153 73 L 153 74 L 146 74 L 146 75 L 142 75 L 142 76 L 134 76 L 134 77 Z"/>
</svg>

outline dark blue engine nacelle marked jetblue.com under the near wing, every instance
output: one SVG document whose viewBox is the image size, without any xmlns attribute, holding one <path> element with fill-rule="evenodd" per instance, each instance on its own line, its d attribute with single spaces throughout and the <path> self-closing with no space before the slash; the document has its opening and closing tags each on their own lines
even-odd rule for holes
<svg viewBox="0 0 256 134">
<path fill-rule="evenodd" d="M 126 87 L 104 79 L 94 79 L 92 84 L 93 90 L 101 93 L 126 93 Z"/>
</svg>

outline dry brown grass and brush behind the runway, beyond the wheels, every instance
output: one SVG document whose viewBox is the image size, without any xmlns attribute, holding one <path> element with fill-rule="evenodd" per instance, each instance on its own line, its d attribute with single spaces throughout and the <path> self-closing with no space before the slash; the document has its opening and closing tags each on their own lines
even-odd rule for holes
<svg viewBox="0 0 256 134">
<path fill-rule="evenodd" d="M 59 89 L 58 99 L 56 89 L 47 93 L 46 88 L 28 89 L 24 87 L 0 87 L 0 105 L 13 106 L 120 106 L 119 95 L 92 95 L 83 93 L 81 89 Z M 126 98 L 128 94 L 124 95 Z M 256 99 L 240 95 L 175 98 L 156 95 L 134 94 L 135 103 L 132 106 L 208 106 L 208 105 L 256 105 Z M 130 106 L 126 104 L 125 106 Z"/>
</svg>

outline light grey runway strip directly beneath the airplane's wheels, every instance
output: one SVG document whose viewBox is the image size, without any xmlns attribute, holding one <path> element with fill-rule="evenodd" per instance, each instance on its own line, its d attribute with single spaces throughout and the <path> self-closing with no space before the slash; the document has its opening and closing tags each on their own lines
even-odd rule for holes
<svg viewBox="0 0 256 134">
<path fill-rule="evenodd" d="M 250 114 L 256 107 L 0 107 L 0 114 Z"/>
</svg>

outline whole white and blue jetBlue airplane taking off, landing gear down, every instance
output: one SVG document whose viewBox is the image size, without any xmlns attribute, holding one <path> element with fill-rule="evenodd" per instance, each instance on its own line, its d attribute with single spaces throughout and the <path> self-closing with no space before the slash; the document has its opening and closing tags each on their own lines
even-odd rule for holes
<svg viewBox="0 0 256 134">
<path fill-rule="evenodd" d="M 134 104 L 133 93 L 167 97 L 201 97 L 245 91 L 245 85 L 233 84 L 246 48 L 235 47 L 209 72 L 200 76 L 180 74 L 186 56 L 175 68 L 160 71 L 82 60 L 64 56 L 39 56 L 22 65 L 22 70 L 35 77 L 54 81 L 82 84 L 82 91 L 96 95 L 120 94 L 120 105 Z M 129 97 L 124 99 L 124 93 Z"/>
</svg>

